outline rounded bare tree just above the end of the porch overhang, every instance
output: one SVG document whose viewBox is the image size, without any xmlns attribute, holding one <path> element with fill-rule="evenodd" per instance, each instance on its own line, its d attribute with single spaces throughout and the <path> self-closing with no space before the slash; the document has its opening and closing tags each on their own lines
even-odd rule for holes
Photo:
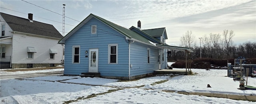
<svg viewBox="0 0 256 104">
<path fill-rule="evenodd" d="M 195 35 L 192 35 L 192 31 L 187 31 L 185 35 L 180 37 L 181 46 L 193 48 L 192 45 L 195 44 Z"/>
</svg>

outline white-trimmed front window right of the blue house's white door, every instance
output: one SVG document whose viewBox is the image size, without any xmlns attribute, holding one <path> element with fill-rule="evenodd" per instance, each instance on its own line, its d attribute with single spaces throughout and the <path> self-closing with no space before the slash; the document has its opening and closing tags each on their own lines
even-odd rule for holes
<svg viewBox="0 0 256 104">
<path fill-rule="evenodd" d="M 108 63 L 118 64 L 118 44 L 108 44 Z"/>
</svg>

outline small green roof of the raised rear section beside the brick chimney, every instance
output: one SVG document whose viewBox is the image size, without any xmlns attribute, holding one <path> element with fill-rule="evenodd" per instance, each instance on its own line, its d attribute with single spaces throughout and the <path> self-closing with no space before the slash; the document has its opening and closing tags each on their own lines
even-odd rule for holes
<svg viewBox="0 0 256 104">
<path fill-rule="evenodd" d="M 165 34 L 166 39 L 168 39 L 165 27 L 157 28 L 157 29 L 146 29 L 142 31 L 147 33 L 148 35 L 151 35 L 152 37 L 161 37 L 163 34 Z"/>
</svg>

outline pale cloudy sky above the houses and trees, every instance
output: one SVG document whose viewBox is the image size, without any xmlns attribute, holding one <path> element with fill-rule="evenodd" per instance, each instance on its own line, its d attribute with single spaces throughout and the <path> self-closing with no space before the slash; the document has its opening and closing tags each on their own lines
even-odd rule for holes
<svg viewBox="0 0 256 104">
<path fill-rule="evenodd" d="M 0 11 L 54 25 L 62 34 L 65 6 L 65 35 L 90 13 L 120 26 L 142 29 L 166 27 L 169 45 L 180 45 L 180 37 L 192 31 L 199 37 L 233 30 L 235 44 L 256 42 L 256 0 L 1 0 Z M 79 22 L 78 22 L 79 21 Z"/>
</svg>

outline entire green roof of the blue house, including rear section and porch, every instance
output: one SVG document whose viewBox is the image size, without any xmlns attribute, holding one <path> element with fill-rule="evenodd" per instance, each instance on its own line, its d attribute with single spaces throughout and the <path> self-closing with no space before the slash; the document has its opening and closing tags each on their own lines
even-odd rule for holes
<svg viewBox="0 0 256 104">
<path fill-rule="evenodd" d="M 106 19 L 103 19 L 101 17 L 98 17 L 97 15 L 94 14 L 90 14 L 88 15 L 81 23 L 79 23 L 74 29 L 72 29 L 65 37 L 63 37 L 61 40 L 59 40 L 59 44 L 65 44 L 65 41 L 72 36 L 76 31 L 78 31 L 83 25 L 85 25 L 90 19 L 92 18 L 96 18 L 99 21 L 105 23 L 106 25 L 108 25 L 109 27 L 111 27 L 112 29 L 118 31 L 119 33 L 121 33 L 122 35 L 124 35 L 125 37 L 131 39 L 131 40 L 139 40 L 142 43 L 146 43 L 146 44 L 151 44 L 153 46 L 157 46 L 158 48 L 169 48 L 169 49 L 173 49 L 173 50 L 181 50 L 181 51 L 186 51 L 186 52 L 193 52 L 190 48 L 186 48 L 186 47 L 179 47 L 179 46 L 169 46 L 167 44 L 155 44 L 152 43 L 150 40 L 155 40 L 155 41 L 159 41 L 157 39 L 154 38 L 154 36 L 149 35 L 148 33 L 144 32 L 143 30 L 139 30 L 136 27 L 132 26 L 130 29 L 135 29 L 140 31 L 141 33 L 143 33 L 144 35 L 147 35 L 147 38 L 152 38 L 152 39 L 147 39 L 145 37 L 143 37 L 142 35 L 130 30 L 130 29 L 126 29 L 120 25 L 116 25 L 115 23 L 112 23 Z M 154 34 L 156 31 L 160 32 L 159 34 L 157 34 L 156 36 L 162 36 L 162 34 L 164 33 L 166 35 L 166 30 L 165 27 L 164 28 L 158 28 L 158 29 L 150 29 L 152 33 L 150 34 Z M 146 30 L 147 31 L 147 30 Z M 149 31 L 149 30 L 148 30 Z M 160 35 L 161 34 L 161 35 Z M 166 35 L 167 38 L 167 35 Z M 160 43 L 160 41 L 159 41 Z"/>
</svg>

